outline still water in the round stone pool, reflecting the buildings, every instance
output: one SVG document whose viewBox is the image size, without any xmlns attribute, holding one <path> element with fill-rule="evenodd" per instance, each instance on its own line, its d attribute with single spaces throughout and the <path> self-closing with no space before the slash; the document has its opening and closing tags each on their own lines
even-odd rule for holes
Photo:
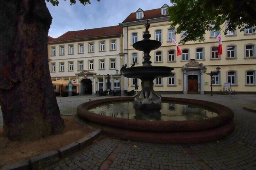
<svg viewBox="0 0 256 170">
<path fill-rule="evenodd" d="M 89 111 L 105 116 L 136 120 L 183 121 L 208 119 L 218 116 L 217 113 L 197 106 L 169 103 L 167 101 L 162 101 L 161 106 L 161 110 L 134 109 L 132 101 L 125 101 L 103 104 L 91 108 Z"/>
</svg>

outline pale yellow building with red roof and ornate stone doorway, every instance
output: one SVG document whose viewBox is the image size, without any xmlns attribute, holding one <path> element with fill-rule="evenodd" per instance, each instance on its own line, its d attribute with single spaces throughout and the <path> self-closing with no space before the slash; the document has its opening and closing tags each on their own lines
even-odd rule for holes
<svg viewBox="0 0 256 170">
<path fill-rule="evenodd" d="M 219 43 L 216 36 L 219 31 L 206 31 L 204 42 L 190 41 L 179 45 L 182 55 L 177 56 L 177 47 L 171 39 L 180 42 L 183 33 L 174 34 L 166 8 L 166 4 L 148 11 L 139 8 L 119 23 L 123 28 L 123 64 L 127 63 L 130 67 L 135 62 L 135 66 L 142 66 L 143 51 L 137 51 L 132 45 L 143 39 L 144 25 L 149 20 L 151 39 L 162 43 L 160 48 L 150 52 L 152 65 L 174 68 L 173 76 L 154 80 L 155 91 L 207 94 L 211 91 L 212 83 L 213 92 L 219 93 L 225 90 L 224 83 L 227 83 L 237 93 L 256 92 L 256 35 L 252 28 L 242 32 L 228 31 L 227 35 L 221 30 L 222 55 L 217 55 Z M 224 29 L 226 24 L 222 25 Z M 218 66 L 221 68 L 219 74 L 212 77 L 205 74 L 215 71 Z M 124 78 L 124 82 L 125 89 L 130 91 L 135 88 L 135 79 Z M 140 81 L 138 85 L 138 90 L 141 90 Z"/>
</svg>

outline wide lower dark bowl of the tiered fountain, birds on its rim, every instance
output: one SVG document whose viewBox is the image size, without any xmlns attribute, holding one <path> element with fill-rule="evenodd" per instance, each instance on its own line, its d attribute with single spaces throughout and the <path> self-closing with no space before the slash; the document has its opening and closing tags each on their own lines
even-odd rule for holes
<svg viewBox="0 0 256 170">
<path fill-rule="evenodd" d="M 126 68 L 123 76 L 138 79 L 155 79 L 157 77 L 171 76 L 171 67 L 166 66 L 137 66 Z"/>
</svg>

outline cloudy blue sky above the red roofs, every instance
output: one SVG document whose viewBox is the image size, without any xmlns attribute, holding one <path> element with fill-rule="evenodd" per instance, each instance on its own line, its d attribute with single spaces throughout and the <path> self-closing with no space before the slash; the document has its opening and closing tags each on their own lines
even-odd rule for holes
<svg viewBox="0 0 256 170">
<path fill-rule="evenodd" d="M 143 11 L 171 6 L 170 0 L 91 0 L 90 5 L 81 5 L 79 1 L 70 5 L 70 1 L 59 0 L 59 6 L 46 2 L 53 20 L 48 36 L 58 38 L 67 31 L 114 26 L 139 8 Z"/>
</svg>

